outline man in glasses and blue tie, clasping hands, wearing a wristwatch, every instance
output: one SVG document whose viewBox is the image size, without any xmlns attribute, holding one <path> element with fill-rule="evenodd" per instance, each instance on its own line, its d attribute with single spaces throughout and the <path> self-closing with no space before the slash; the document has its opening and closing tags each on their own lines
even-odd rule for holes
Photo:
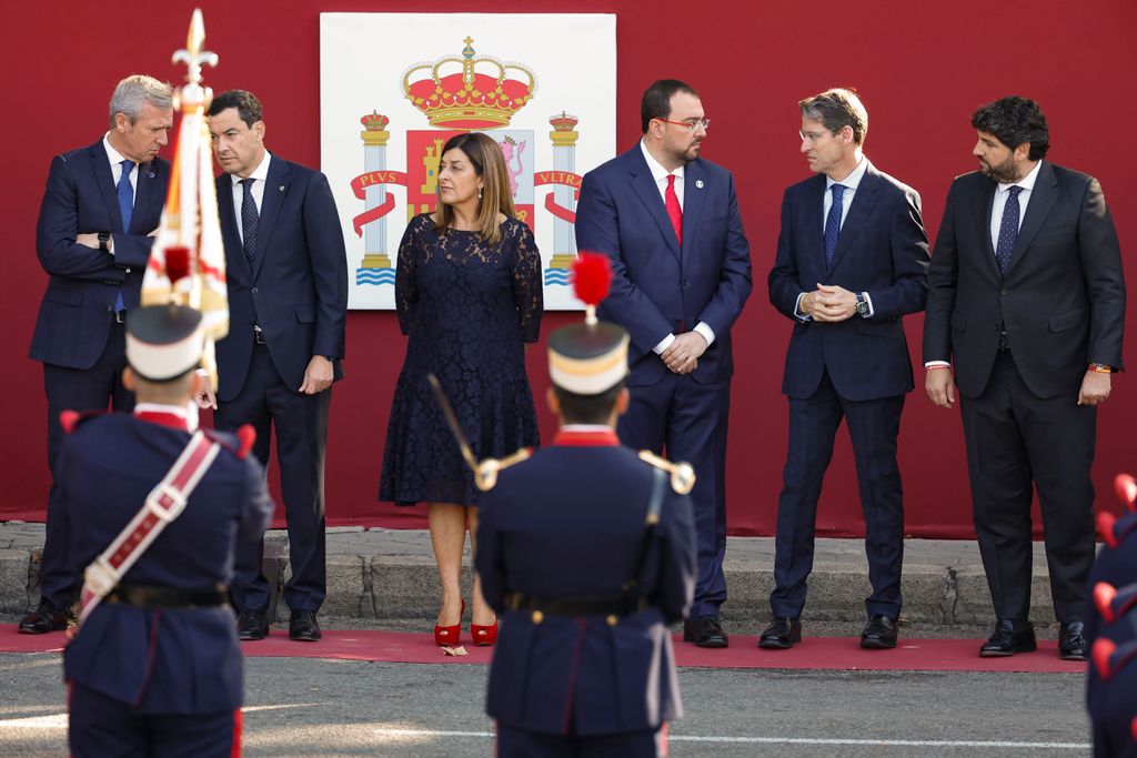
<svg viewBox="0 0 1137 758">
<path fill-rule="evenodd" d="M 786 190 L 770 301 L 794 322 L 782 392 L 789 449 L 778 499 L 773 622 L 758 647 L 802 639 L 821 482 L 844 417 L 856 459 L 872 594 L 861 647 L 896 647 L 904 497 L 896 436 L 913 388 L 906 314 L 923 308 L 928 235 L 915 190 L 864 156 L 869 114 L 852 90 L 802 100 L 802 152 L 818 173 Z"/>
</svg>

